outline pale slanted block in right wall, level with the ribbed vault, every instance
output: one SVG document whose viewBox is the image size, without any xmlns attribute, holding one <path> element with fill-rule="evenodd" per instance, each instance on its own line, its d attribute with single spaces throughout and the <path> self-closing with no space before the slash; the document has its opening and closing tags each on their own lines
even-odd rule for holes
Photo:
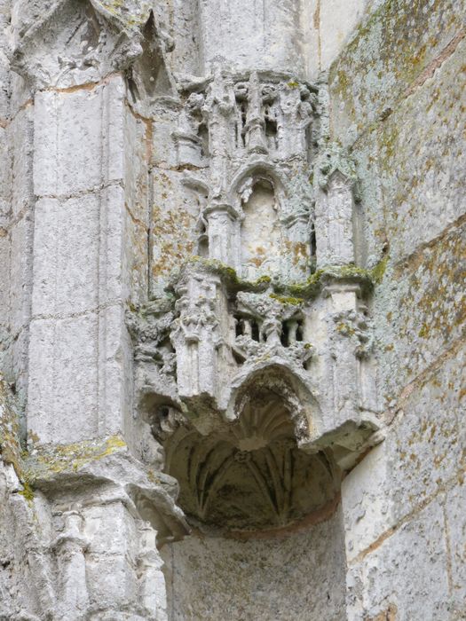
<svg viewBox="0 0 466 621">
<path fill-rule="evenodd" d="M 458 476 L 464 351 L 412 389 L 382 444 L 342 484 L 349 560 Z"/>
</svg>

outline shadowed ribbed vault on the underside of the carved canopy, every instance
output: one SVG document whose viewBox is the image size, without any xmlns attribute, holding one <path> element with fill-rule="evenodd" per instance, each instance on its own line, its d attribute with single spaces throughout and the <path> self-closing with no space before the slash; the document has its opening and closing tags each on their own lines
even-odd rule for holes
<svg viewBox="0 0 466 621">
<path fill-rule="evenodd" d="M 283 370 L 255 376 L 236 403 L 238 419 L 207 436 L 188 423 L 173 435 L 162 433 L 165 468 L 180 485 L 178 504 L 192 525 L 252 534 L 330 515 L 339 471 L 330 452 L 299 448 L 304 423 Z"/>
</svg>

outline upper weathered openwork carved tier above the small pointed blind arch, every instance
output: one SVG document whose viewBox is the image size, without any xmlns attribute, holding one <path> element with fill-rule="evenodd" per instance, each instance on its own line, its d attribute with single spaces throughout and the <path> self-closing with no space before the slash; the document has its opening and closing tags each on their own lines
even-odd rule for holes
<svg viewBox="0 0 466 621">
<path fill-rule="evenodd" d="M 317 88 L 291 76 L 232 75 L 217 67 L 204 82 L 186 85 L 175 132 L 178 161 L 204 160 L 215 169 L 221 158 L 241 161 L 251 153 L 308 160 L 316 104 Z"/>
</svg>

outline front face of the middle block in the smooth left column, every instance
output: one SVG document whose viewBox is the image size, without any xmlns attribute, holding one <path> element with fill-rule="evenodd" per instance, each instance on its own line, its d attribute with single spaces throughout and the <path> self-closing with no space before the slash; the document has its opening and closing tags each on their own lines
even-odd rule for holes
<svg viewBox="0 0 466 621">
<path fill-rule="evenodd" d="M 99 202 L 94 194 L 37 201 L 34 316 L 90 311 L 97 306 Z"/>
</svg>

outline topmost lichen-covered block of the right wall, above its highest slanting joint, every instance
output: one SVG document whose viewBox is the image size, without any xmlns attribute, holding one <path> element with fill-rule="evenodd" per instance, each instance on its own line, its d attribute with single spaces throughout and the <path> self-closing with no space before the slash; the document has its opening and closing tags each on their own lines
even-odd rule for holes
<svg viewBox="0 0 466 621">
<path fill-rule="evenodd" d="M 462 0 L 394 0 L 362 22 L 329 75 L 332 121 L 346 144 L 377 115 L 396 111 L 416 79 L 454 51 L 464 8 Z"/>
</svg>

